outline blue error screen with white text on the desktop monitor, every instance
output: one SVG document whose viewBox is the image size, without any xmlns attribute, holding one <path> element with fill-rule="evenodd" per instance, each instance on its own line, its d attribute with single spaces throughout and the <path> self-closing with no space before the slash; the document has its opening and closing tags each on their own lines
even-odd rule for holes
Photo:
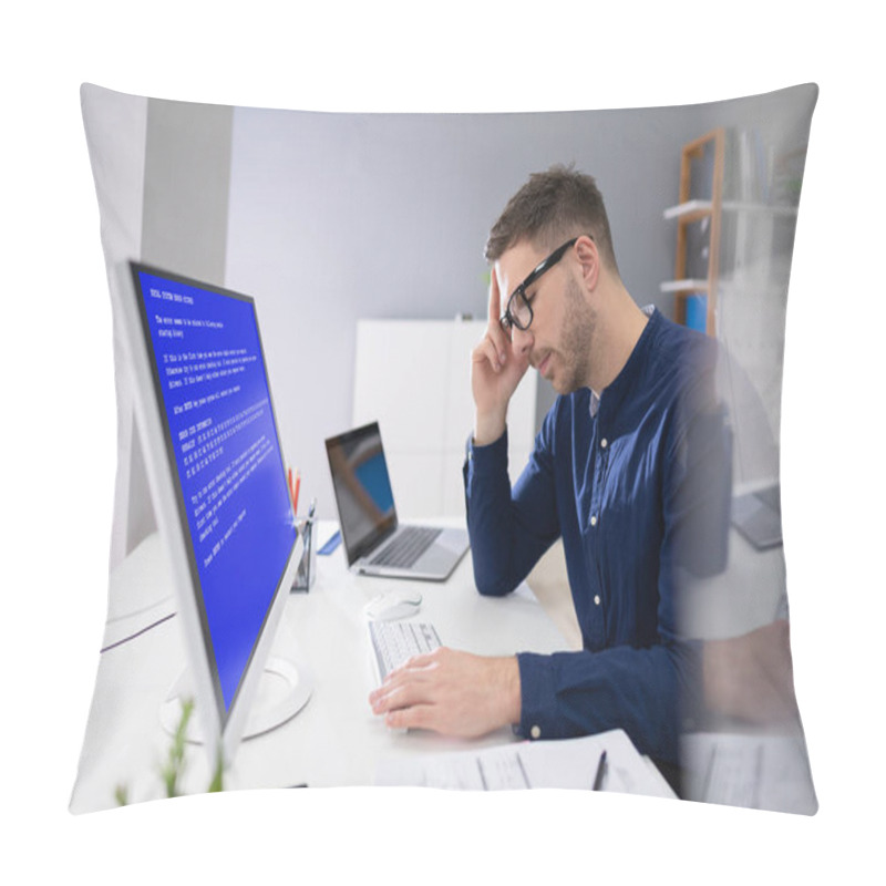
<svg viewBox="0 0 886 886">
<path fill-rule="evenodd" d="M 296 542 L 255 307 L 144 270 L 137 278 L 228 711 Z"/>
</svg>

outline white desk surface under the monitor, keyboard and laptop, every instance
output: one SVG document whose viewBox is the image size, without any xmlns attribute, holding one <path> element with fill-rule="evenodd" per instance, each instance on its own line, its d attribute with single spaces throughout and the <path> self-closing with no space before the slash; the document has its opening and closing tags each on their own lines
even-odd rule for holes
<svg viewBox="0 0 886 886">
<path fill-rule="evenodd" d="M 371 785 L 377 762 L 385 754 L 515 740 L 511 729 L 472 742 L 388 730 L 368 702 L 372 670 L 362 607 L 403 583 L 351 575 L 341 547 L 317 560 L 317 583 L 310 593 L 290 596 L 274 651 L 310 669 L 313 696 L 288 723 L 241 743 L 226 773 L 226 789 Z M 156 535 L 111 576 L 115 602 L 99 662 L 73 812 L 113 807 L 120 784 L 126 785 L 130 802 L 163 796 L 158 771 L 171 740 L 158 711 L 185 661 L 181 625 L 177 617 L 169 617 L 174 607 L 168 584 Z M 424 597 L 415 618 L 434 624 L 446 646 L 481 655 L 568 648 L 526 586 L 504 599 L 481 597 L 470 553 L 447 581 L 415 584 Z M 144 630 L 147 625 L 153 627 Z M 205 756 L 202 748 L 188 748 L 185 792 L 202 792 L 209 784 Z"/>
</svg>

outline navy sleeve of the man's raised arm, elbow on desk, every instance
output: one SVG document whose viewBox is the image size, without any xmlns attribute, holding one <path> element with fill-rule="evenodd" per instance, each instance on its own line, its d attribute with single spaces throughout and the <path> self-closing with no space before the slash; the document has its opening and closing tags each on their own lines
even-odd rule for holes
<svg viewBox="0 0 886 886">
<path fill-rule="evenodd" d="M 507 430 L 486 446 L 468 437 L 463 474 L 474 581 L 483 595 L 504 596 L 559 536 L 546 429 L 513 491 Z"/>
</svg>

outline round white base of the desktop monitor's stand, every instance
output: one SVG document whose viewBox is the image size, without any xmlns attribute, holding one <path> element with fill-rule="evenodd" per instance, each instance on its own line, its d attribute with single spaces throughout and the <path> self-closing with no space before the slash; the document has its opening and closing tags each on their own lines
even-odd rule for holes
<svg viewBox="0 0 886 886">
<path fill-rule="evenodd" d="M 291 661 L 271 656 L 259 679 L 243 738 L 261 735 L 291 720 L 308 703 L 312 690 L 313 681 L 303 666 L 296 668 Z M 190 672 L 186 668 L 173 683 L 159 709 L 161 723 L 169 735 L 175 735 L 182 722 L 182 703 L 187 698 L 196 700 Z M 206 743 L 203 718 L 192 714 L 186 738 L 192 744 Z"/>
</svg>

